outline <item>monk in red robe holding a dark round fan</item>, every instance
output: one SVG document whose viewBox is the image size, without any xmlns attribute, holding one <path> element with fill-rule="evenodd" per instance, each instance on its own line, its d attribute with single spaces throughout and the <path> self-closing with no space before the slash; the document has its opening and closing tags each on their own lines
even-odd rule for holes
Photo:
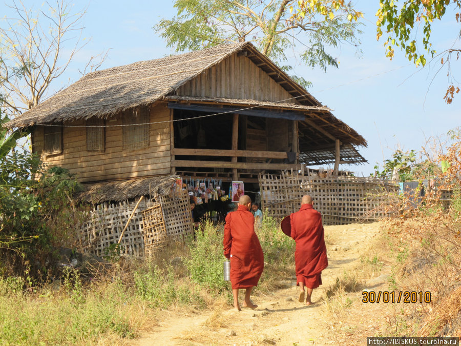
<svg viewBox="0 0 461 346">
<path fill-rule="evenodd" d="M 328 266 L 322 215 L 312 209 L 312 197 L 303 196 L 301 209 L 290 215 L 291 238 L 296 241 L 296 281 L 300 288 L 299 301 L 304 301 L 304 287 L 307 288 L 306 304 L 312 304 L 313 289 L 322 284 L 321 273 Z"/>
</svg>

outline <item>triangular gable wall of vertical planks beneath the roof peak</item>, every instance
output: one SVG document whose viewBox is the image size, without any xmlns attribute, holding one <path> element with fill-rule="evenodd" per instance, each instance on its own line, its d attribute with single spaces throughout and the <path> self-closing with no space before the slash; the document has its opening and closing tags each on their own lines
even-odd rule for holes
<svg viewBox="0 0 461 346">
<path fill-rule="evenodd" d="M 272 102 L 285 100 L 285 103 L 298 104 L 291 94 L 252 60 L 237 53 L 185 83 L 176 91 L 176 95 Z"/>
</svg>

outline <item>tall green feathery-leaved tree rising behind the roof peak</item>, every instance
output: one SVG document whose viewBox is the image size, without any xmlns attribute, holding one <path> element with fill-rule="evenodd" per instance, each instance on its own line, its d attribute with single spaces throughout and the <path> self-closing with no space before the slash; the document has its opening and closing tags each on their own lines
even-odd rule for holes
<svg viewBox="0 0 461 346">
<path fill-rule="evenodd" d="M 359 23 L 353 18 L 357 20 L 361 13 L 344 1 L 176 0 L 174 7 L 177 16 L 162 19 L 154 30 L 161 32 L 167 46 L 176 51 L 248 40 L 279 65 L 287 60 L 290 49 L 308 66 L 326 70 L 328 66 L 338 67 L 327 47 L 360 44 Z M 300 52 L 296 52 L 298 46 L 302 47 Z"/>
</svg>

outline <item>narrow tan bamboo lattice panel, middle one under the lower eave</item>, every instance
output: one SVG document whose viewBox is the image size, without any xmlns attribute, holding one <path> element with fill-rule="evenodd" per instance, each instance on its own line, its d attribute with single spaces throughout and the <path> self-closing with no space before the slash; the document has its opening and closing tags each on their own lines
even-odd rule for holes
<svg viewBox="0 0 461 346">
<path fill-rule="evenodd" d="M 142 218 L 144 222 L 144 253 L 146 257 L 151 257 L 155 251 L 162 249 L 166 245 L 167 240 L 160 203 L 154 203 L 153 207 L 144 210 Z"/>
</svg>

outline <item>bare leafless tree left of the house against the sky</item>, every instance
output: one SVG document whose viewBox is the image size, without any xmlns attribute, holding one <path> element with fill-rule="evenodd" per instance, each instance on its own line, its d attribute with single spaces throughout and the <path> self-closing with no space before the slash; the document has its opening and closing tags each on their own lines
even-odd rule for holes
<svg viewBox="0 0 461 346">
<path fill-rule="evenodd" d="M 34 12 L 13 0 L 15 17 L 0 23 L 0 87 L 3 106 L 11 115 L 35 107 L 54 79 L 64 73 L 75 54 L 88 44 L 81 37 L 80 19 L 65 0 L 45 3 L 47 11 Z M 69 49 L 70 45 L 70 49 Z M 100 62 L 96 63 L 98 57 Z M 106 54 L 90 58 L 88 68 L 97 69 Z"/>
</svg>

